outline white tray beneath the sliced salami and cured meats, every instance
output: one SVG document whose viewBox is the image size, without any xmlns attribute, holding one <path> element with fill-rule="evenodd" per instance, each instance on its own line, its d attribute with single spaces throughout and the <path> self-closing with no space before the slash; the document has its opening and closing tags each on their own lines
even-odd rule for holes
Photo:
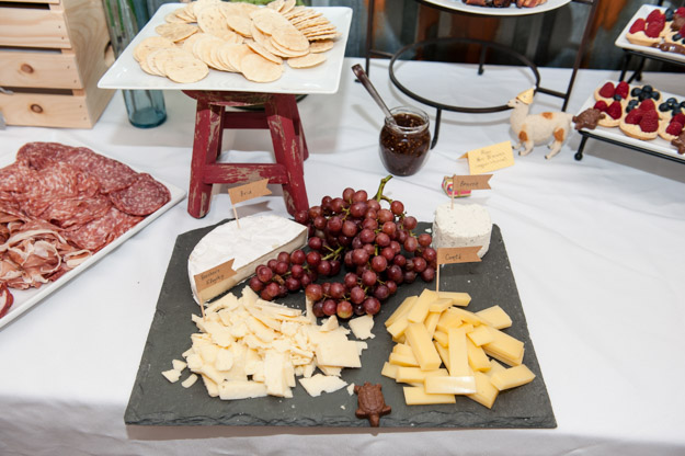
<svg viewBox="0 0 685 456">
<path fill-rule="evenodd" d="M 100 153 L 103 157 L 112 158 L 112 157 L 109 157 L 106 153 L 102 153 L 100 150 L 95 150 L 95 152 Z M 0 163 L 0 168 L 4 168 L 13 161 L 14 160 L 12 158 L 9 162 Z M 147 172 L 147 171 L 141 171 L 137 169 L 134 169 L 134 170 L 137 172 Z M 4 327 L 5 324 L 10 323 L 12 320 L 14 320 L 16 317 L 19 317 L 26 310 L 31 309 L 33 306 L 38 304 L 45 297 L 56 292 L 59 287 L 67 284 L 67 282 L 71 281 L 72 278 L 83 273 L 88 267 L 90 267 L 91 265 L 100 261 L 102 258 L 107 255 L 111 251 L 113 251 L 118 246 L 124 243 L 126 240 L 128 240 L 128 238 L 134 236 L 136 232 L 140 231 L 142 228 L 150 225 L 156 218 L 164 214 L 167 210 L 169 210 L 171 207 L 173 207 L 176 203 L 179 203 L 181 200 L 185 197 L 185 191 L 179 189 L 175 185 L 161 181 L 159 179 L 157 179 L 157 181 L 167 185 L 167 189 L 169 189 L 169 192 L 171 193 L 171 200 L 167 204 L 164 204 L 162 207 L 157 209 L 157 212 L 148 215 L 138 225 L 136 225 L 128 231 L 124 232 L 114 241 L 105 246 L 102 250 L 99 250 L 94 255 L 85 260 L 83 263 L 79 264 L 77 267 L 64 274 L 61 277 L 59 277 L 55 282 L 49 282 L 47 284 L 44 284 L 39 288 L 28 288 L 28 289 L 10 288 L 10 293 L 12 293 L 12 296 L 14 296 L 14 304 L 12 304 L 12 307 L 10 307 L 10 310 L 4 315 L 4 317 L 0 318 L 0 329 Z"/>
</svg>

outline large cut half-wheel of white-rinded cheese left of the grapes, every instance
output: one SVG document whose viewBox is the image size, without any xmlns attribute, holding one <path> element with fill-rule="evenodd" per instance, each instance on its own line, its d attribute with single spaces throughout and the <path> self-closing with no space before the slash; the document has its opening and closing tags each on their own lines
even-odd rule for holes
<svg viewBox="0 0 685 456">
<path fill-rule="evenodd" d="M 194 276 L 233 259 L 236 275 L 205 290 L 206 299 L 230 289 L 252 274 L 254 269 L 275 259 L 278 252 L 292 252 L 307 242 L 307 227 L 275 215 L 243 217 L 209 231 L 195 246 L 187 260 L 193 298 L 199 303 Z"/>
</svg>

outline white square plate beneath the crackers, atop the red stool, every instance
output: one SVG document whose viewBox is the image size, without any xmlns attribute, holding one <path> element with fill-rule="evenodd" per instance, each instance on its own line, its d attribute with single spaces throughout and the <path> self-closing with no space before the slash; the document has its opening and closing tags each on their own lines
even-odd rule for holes
<svg viewBox="0 0 685 456">
<path fill-rule="evenodd" d="M 338 32 L 342 33 L 333 48 L 326 53 L 327 60 L 317 67 L 293 69 L 284 62 L 284 71 L 281 79 L 267 83 L 252 82 L 242 75 L 209 69 L 209 75 L 202 81 L 180 84 L 168 78 L 148 75 L 142 71 L 140 65 L 133 57 L 133 50 L 142 39 L 149 36 L 157 36 L 155 27 L 164 24 L 164 16 L 178 8 L 182 8 L 183 4 L 162 4 L 140 33 L 124 49 L 114 65 L 100 79 L 98 87 L 101 89 L 204 90 L 292 94 L 330 94 L 338 92 L 341 69 L 345 57 L 345 44 L 347 43 L 350 24 L 352 22 L 351 8 L 315 8 L 315 10 L 322 12 L 335 25 Z"/>
</svg>

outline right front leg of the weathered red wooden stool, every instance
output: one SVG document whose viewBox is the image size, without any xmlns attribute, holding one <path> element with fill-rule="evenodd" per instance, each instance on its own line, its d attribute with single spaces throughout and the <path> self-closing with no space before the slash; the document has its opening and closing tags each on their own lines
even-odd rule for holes
<svg viewBox="0 0 685 456">
<path fill-rule="evenodd" d="M 288 183 L 283 184 L 283 197 L 290 214 L 309 208 L 305 187 L 302 160 L 304 132 L 299 123 L 295 95 L 275 94 L 264 104 L 266 121 L 271 130 L 276 162 L 283 164 Z"/>
</svg>

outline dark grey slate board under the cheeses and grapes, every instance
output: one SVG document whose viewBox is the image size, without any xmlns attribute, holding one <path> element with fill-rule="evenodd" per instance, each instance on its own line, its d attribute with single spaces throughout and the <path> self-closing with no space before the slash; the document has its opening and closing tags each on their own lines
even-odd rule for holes
<svg viewBox="0 0 685 456">
<path fill-rule="evenodd" d="M 224 401 L 210 398 L 202 380 L 185 389 L 181 381 L 171 384 L 161 375 L 171 368 L 172 360 L 182 360 L 181 353 L 191 346 L 191 334 L 198 332 L 191 321 L 192 314 L 199 315 L 199 307 L 192 298 L 187 258 L 199 239 L 215 227 L 189 231 L 176 239 L 124 415 L 125 423 L 179 426 L 368 426 L 368 421 L 355 418 L 357 397 L 350 395 L 345 388 L 312 398 L 298 384 L 293 388 L 292 399 L 264 397 Z M 430 224 L 422 223 L 416 231 L 427 228 Z M 399 286 L 398 293 L 384 303 L 381 311 L 374 317 L 373 332 L 376 338 L 366 340 L 368 349 L 362 354 L 362 368 L 343 369 L 342 378 L 355 385 L 369 381 L 383 386 L 386 403 L 392 407 L 392 412 L 381 418 L 381 428 L 556 428 L 551 402 L 528 334 L 499 227 L 493 226 L 490 250 L 482 262 L 445 265 L 439 277 L 441 290 L 467 292 L 471 295 L 468 310 L 478 311 L 496 304 L 510 315 L 513 326 L 504 331 L 525 343 L 524 364 L 536 375 L 533 383 L 501 392 L 491 410 L 459 396 L 456 404 L 406 406 L 403 385 L 380 375 L 392 347 L 390 334 L 386 332 L 383 322 L 407 296 L 419 295 L 426 286 L 435 287 L 435 283 L 426 284 L 421 280 Z M 239 296 L 243 286 L 244 283 L 231 292 Z M 305 306 L 301 292 L 277 301 L 302 310 Z M 353 339 L 353 335 L 350 338 Z M 187 376 L 186 369 L 181 380 Z"/>
</svg>

